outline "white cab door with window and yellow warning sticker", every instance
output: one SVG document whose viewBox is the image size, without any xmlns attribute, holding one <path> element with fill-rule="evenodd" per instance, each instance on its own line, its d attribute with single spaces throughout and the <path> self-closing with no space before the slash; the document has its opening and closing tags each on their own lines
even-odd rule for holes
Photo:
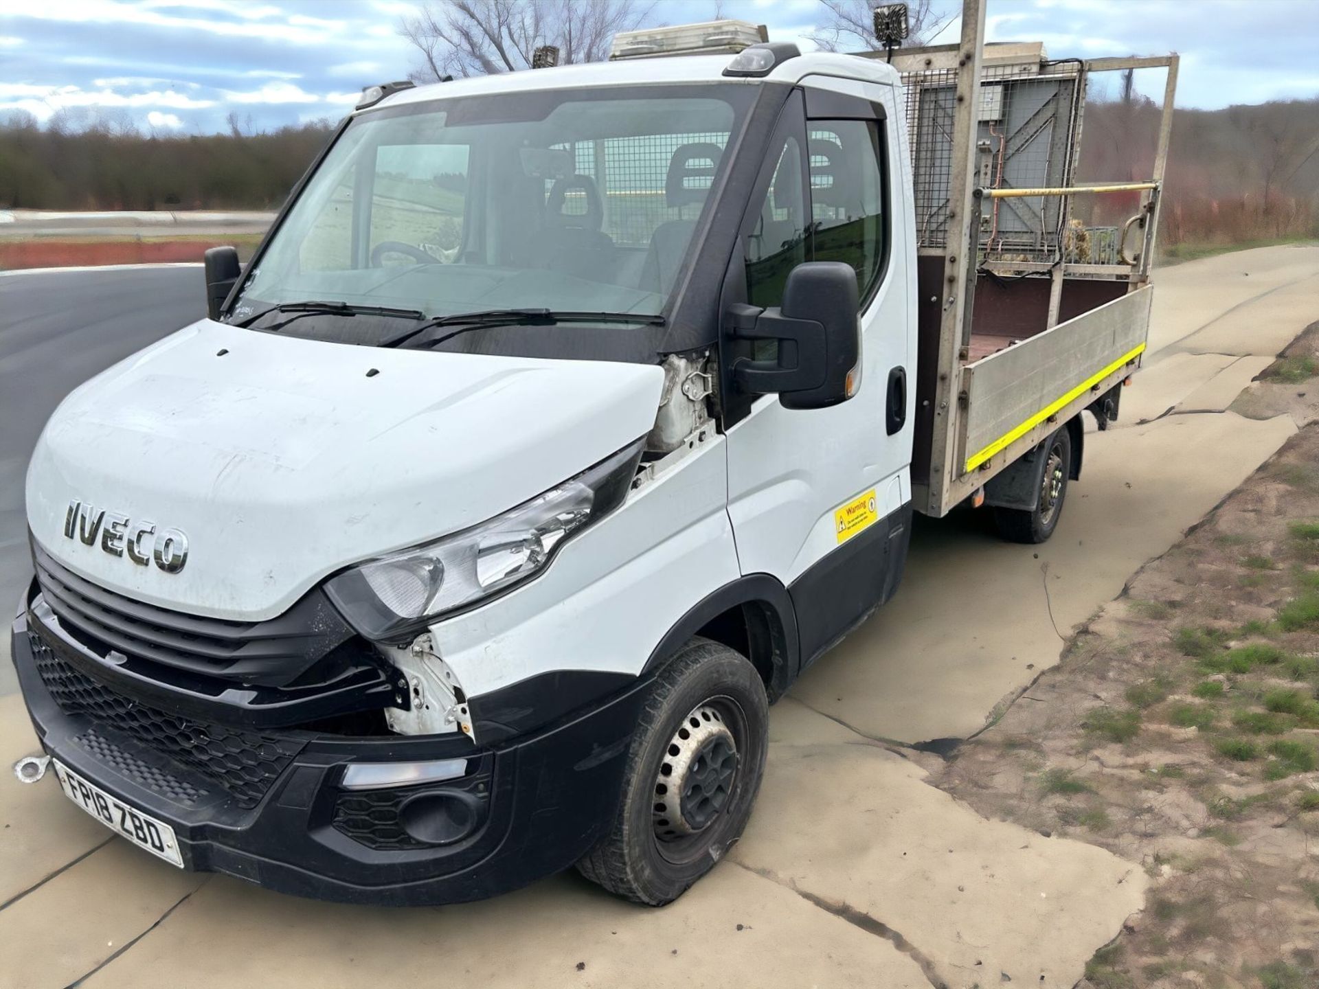
<svg viewBox="0 0 1319 989">
<path fill-rule="evenodd" d="M 787 102 L 743 220 L 725 299 L 780 305 L 786 273 L 844 261 L 857 273 L 861 384 L 826 409 L 732 394 L 728 513 L 743 574 L 770 574 L 797 611 L 802 663 L 896 589 L 911 504 L 911 340 L 906 216 L 889 156 L 893 87 L 807 76 Z M 739 277 L 740 276 L 740 277 Z M 744 278 L 744 285 L 741 284 Z M 757 340 L 756 360 L 777 342 Z M 769 348 L 769 352 L 765 352 Z M 725 343 L 724 360 L 731 359 Z M 749 402 L 739 407 L 739 402 Z"/>
</svg>

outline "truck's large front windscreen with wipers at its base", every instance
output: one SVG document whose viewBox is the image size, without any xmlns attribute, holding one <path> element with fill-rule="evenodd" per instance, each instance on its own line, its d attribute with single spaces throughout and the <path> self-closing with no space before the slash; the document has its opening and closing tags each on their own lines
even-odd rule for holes
<svg viewBox="0 0 1319 989">
<path fill-rule="evenodd" d="M 364 113 L 257 257 L 232 318 L 306 301 L 426 318 L 663 315 L 748 88 L 510 92 Z"/>
</svg>

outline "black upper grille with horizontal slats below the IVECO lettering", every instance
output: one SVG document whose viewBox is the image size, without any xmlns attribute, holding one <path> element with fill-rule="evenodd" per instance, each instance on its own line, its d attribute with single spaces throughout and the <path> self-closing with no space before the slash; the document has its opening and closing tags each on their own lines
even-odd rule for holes
<svg viewBox="0 0 1319 989">
<path fill-rule="evenodd" d="M 282 687 L 353 636 L 319 589 L 276 618 L 227 621 L 108 591 L 74 574 L 36 542 L 32 555 L 50 611 L 102 655 L 117 650 L 191 674 Z"/>
</svg>

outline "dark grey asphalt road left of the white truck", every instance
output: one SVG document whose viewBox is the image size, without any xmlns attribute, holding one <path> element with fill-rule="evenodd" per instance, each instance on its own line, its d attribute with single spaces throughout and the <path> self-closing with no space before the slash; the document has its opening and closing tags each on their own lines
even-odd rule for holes
<svg viewBox="0 0 1319 989">
<path fill-rule="evenodd" d="M 50 413 L 87 378 L 204 311 L 200 265 L 0 276 L 0 603 L 7 616 L 30 578 L 22 487 Z M 8 655 L 4 638 L 0 654 Z M 0 695 L 15 687 L 9 663 L 0 663 Z"/>
</svg>

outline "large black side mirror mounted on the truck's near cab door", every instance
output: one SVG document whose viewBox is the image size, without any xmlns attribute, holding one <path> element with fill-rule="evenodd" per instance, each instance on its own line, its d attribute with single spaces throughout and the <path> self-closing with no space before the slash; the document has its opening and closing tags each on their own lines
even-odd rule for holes
<svg viewBox="0 0 1319 989">
<path fill-rule="evenodd" d="M 733 336 L 778 340 L 776 360 L 739 360 L 733 382 L 749 394 L 778 394 L 786 409 L 847 401 L 861 384 L 856 272 L 842 261 L 806 261 L 787 273 L 778 309 L 732 306 Z"/>
</svg>

